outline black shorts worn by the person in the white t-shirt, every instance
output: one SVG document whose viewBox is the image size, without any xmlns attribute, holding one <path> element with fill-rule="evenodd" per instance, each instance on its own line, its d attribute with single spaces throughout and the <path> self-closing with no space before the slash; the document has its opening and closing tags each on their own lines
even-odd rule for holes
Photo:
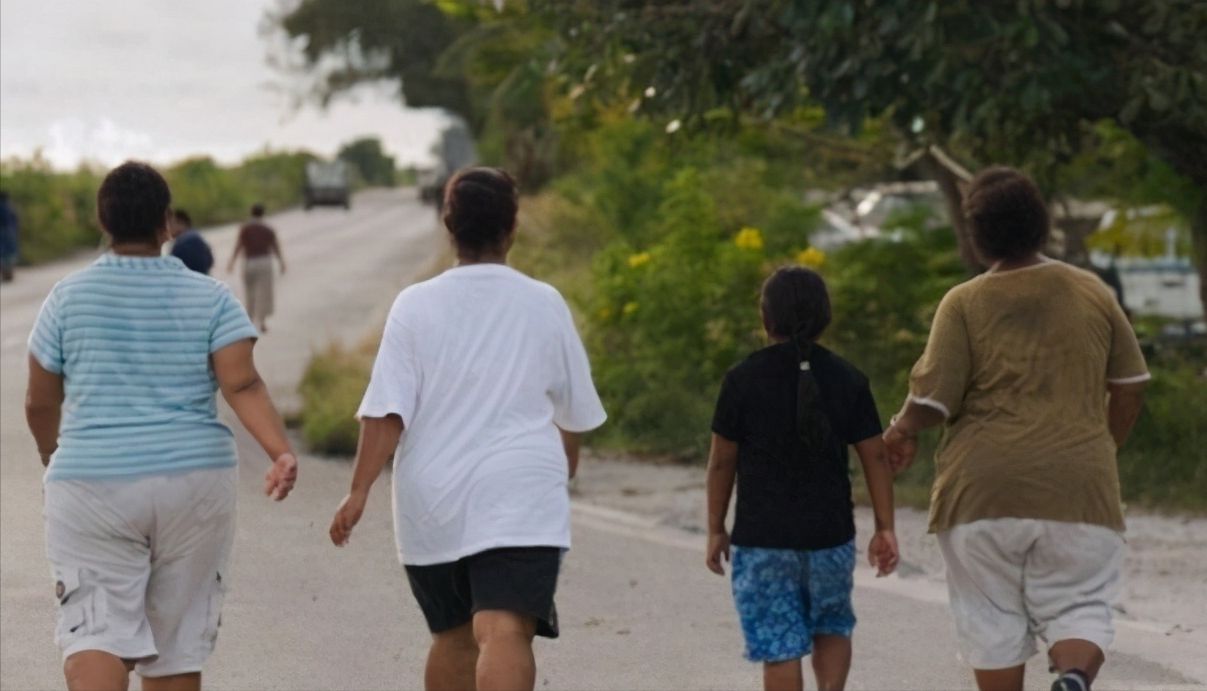
<svg viewBox="0 0 1207 691">
<path fill-rule="evenodd" d="M 535 619 L 537 635 L 558 638 L 553 593 L 560 547 L 502 547 L 456 562 L 406 568 L 410 592 L 432 633 L 468 623 L 482 610 L 503 610 Z"/>
</svg>

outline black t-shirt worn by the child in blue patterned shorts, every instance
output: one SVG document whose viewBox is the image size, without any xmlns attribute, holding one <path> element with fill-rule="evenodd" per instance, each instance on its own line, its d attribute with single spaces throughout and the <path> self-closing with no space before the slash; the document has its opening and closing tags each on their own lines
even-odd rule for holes
<svg viewBox="0 0 1207 691">
<path fill-rule="evenodd" d="M 712 431 L 737 442 L 733 544 L 823 550 L 855 538 L 847 445 L 879 436 L 868 378 L 814 346 L 810 367 L 830 420 L 828 448 L 810 452 L 797 434 L 797 347 L 764 348 L 729 370 Z"/>
</svg>

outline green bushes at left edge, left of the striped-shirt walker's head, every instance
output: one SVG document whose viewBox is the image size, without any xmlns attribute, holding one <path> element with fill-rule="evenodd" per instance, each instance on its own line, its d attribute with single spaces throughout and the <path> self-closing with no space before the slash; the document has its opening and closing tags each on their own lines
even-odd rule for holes
<svg viewBox="0 0 1207 691">
<path fill-rule="evenodd" d="M 97 187 L 101 174 L 88 167 L 56 173 L 48 162 L 8 159 L 0 166 L 0 188 L 8 192 L 21 221 L 21 256 L 40 263 L 72 250 L 97 246 Z"/>
</svg>

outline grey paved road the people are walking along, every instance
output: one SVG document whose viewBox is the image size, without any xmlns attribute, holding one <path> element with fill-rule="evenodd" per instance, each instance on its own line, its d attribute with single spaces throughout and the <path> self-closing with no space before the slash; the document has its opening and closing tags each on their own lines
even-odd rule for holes
<svg viewBox="0 0 1207 691">
<path fill-rule="evenodd" d="M 331 339 L 355 342 L 379 329 L 397 291 L 439 261 L 443 239 L 431 209 L 410 191 L 366 192 L 350 213 L 288 211 L 270 221 L 290 273 L 279 283 L 278 315 L 257 361 L 288 407 L 309 354 Z M 221 266 L 233 230 L 208 237 Z M 27 269 L 0 291 L 4 690 L 62 687 L 42 547 L 41 468 L 21 410 L 24 337 L 53 281 L 86 261 Z M 348 464 L 304 457 L 298 489 L 273 504 L 260 494 L 267 460 L 226 417 L 239 434 L 243 492 L 232 588 L 206 686 L 420 687 L 427 635 L 395 561 L 387 478 L 374 489 L 352 544 L 337 551 L 326 528 L 346 487 Z M 867 570 L 858 582 L 851 689 L 970 686 L 943 593 L 899 579 L 875 581 Z M 559 608 L 561 640 L 537 646 L 538 689 L 760 687 L 759 668 L 740 658 L 728 586 L 701 565 L 699 536 L 576 506 Z M 1159 631 L 1136 625 L 1121 628 L 1119 643 L 1098 689 L 1205 687 L 1201 650 L 1171 646 Z M 1046 689 L 1050 678 L 1032 667 L 1028 685 Z"/>
</svg>

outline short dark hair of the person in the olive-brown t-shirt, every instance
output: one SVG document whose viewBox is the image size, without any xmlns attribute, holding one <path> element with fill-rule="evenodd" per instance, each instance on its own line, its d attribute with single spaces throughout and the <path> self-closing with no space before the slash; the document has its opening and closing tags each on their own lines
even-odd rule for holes
<svg viewBox="0 0 1207 691">
<path fill-rule="evenodd" d="M 1050 220 L 1039 187 L 1022 173 L 1002 166 L 973 178 L 964 197 L 973 243 L 986 260 L 1011 260 L 1038 251 L 1048 240 Z"/>
</svg>

